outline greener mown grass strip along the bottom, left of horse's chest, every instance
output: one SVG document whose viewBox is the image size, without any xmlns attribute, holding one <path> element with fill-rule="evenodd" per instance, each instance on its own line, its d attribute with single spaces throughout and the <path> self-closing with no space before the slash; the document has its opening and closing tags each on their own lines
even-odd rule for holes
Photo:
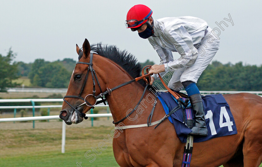
<svg viewBox="0 0 262 167">
<path fill-rule="evenodd" d="M 32 155 L 20 155 L 6 158 L 0 158 L 1 166 L 5 167 L 65 167 L 65 166 L 77 166 L 76 163 L 81 166 L 94 166 L 94 167 L 116 167 L 118 166 L 114 160 L 112 146 L 104 150 L 100 155 L 96 156 L 95 161 L 89 162 L 89 159 L 85 158 L 85 152 L 87 149 L 67 150 L 65 154 L 62 154 L 60 150 L 57 151 L 45 151 Z M 92 159 L 92 158 L 91 158 Z"/>
</svg>

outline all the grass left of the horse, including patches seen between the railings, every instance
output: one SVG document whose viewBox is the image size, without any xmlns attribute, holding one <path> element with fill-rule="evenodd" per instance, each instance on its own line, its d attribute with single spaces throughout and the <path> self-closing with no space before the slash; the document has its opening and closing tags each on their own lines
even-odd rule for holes
<svg viewBox="0 0 262 167">
<path fill-rule="evenodd" d="M 2 93 L 4 99 L 32 98 L 36 95 L 45 98 L 53 93 Z M 65 94 L 62 94 L 64 96 Z M 51 105 L 49 103 L 42 105 Z M 52 105 L 59 105 L 54 104 Z M 51 108 L 50 115 L 58 115 L 60 109 Z M 102 108 L 99 113 L 106 113 Z M 32 116 L 28 113 L 27 116 Z M 36 116 L 40 116 L 36 112 Z M 12 118 L 13 113 L 2 114 L 0 118 Z M 20 117 L 19 112 L 17 117 Z M 35 121 L 35 129 L 32 129 L 32 121 L 28 122 L 3 122 L 0 123 L 0 164 L 1 166 L 77 166 L 76 162 L 83 162 L 83 166 L 118 166 L 114 160 L 112 144 L 107 143 L 108 148 L 103 154 L 98 155 L 93 163 L 85 158 L 85 152 L 91 147 L 97 147 L 99 142 L 107 139 L 114 129 L 112 118 L 99 118 L 94 121 L 84 120 L 80 124 L 66 125 L 65 154 L 61 154 L 61 127 L 59 120 L 50 122 Z M 222 166 L 221 166 L 222 167 Z M 260 165 L 262 167 L 262 164 Z"/>
</svg>

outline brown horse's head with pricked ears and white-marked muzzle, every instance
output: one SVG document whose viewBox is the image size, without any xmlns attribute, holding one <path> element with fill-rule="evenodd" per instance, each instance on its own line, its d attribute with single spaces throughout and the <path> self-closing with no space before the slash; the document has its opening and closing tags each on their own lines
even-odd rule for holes
<svg viewBox="0 0 262 167">
<path fill-rule="evenodd" d="M 100 86 L 94 83 L 97 76 L 92 68 L 93 53 L 90 56 L 90 44 L 87 39 L 83 43 L 83 51 L 76 45 L 76 52 L 79 55 L 79 61 L 72 73 L 59 115 L 67 125 L 83 121 L 85 113 L 96 103 L 95 90 L 101 90 Z"/>
</svg>

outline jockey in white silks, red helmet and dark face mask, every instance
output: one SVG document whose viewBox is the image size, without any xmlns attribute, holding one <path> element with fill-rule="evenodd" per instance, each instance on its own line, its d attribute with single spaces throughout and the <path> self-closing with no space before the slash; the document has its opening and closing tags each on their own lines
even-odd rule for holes
<svg viewBox="0 0 262 167">
<path fill-rule="evenodd" d="M 195 113 L 196 124 L 191 135 L 207 135 L 201 94 L 196 82 L 219 49 L 219 40 L 211 33 L 207 23 L 196 17 L 165 17 L 153 20 L 152 10 L 145 5 L 135 5 L 127 13 L 126 26 L 138 31 L 141 38 L 148 39 L 160 57 L 160 65 L 149 71 L 150 85 L 158 73 L 172 71 L 168 87 L 181 91 L 184 87 Z M 174 60 L 172 52 L 181 57 Z"/>
</svg>

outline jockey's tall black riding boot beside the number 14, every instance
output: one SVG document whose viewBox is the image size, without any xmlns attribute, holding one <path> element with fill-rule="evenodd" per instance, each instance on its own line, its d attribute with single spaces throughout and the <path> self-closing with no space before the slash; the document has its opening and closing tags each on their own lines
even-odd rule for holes
<svg viewBox="0 0 262 167">
<path fill-rule="evenodd" d="M 203 104 L 200 94 L 189 96 L 193 111 L 195 113 L 196 125 L 191 129 L 190 135 L 207 136 L 206 121 L 204 117 Z"/>
</svg>

